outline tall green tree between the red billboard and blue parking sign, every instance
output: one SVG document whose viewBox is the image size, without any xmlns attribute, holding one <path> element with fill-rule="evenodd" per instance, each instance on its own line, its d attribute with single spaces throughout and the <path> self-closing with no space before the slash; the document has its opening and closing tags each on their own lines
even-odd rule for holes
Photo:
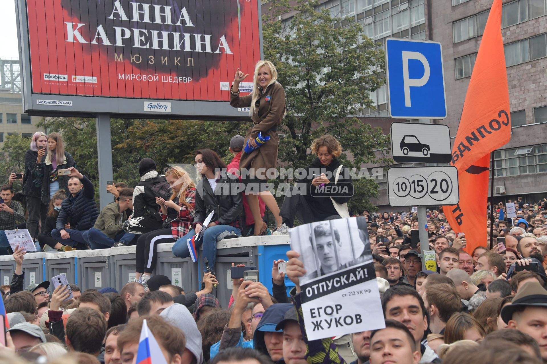
<svg viewBox="0 0 547 364">
<path fill-rule="evenodd" d="M 340 159 L 348 168 L 389 164 L 391 159 L 375 153 L 389 148 L 389 137 L 380 128 L 347 117 L 374 107 L 369 91 L 383 85 L 383 51 L 374 50 L 374 41 L 358 23 L 333 18 L 328 10 L 316 10 L 317 5 L 315 0 L 297 0 L 292 7 L 296 14 L 284 24 L 276 15 L 289 4 L 276 0 L 263 18 L 264 56 L 276 65 L 287 94 L 278 159 L 293 168 L 310 164 L 315 158 L 308 152 L 311 142 L 328 133 L 340 141 L 345 151 Z M 350 208 L 373 208 L 369 198 L 377 196 L 377 184 L 355 183 Z"/>
</svg>

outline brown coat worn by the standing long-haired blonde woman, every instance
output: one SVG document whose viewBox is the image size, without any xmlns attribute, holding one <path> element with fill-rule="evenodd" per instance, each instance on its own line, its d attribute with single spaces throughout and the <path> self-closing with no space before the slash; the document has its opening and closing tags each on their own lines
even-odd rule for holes
<svg viewBox="0 0 547 364">
<path fill-rule="evenodd" d="M 234 106 L 234 108 L 248 108 L 251 106 L 251 95 L 240 97 L 239 93 L 234 94 L 231 91 L 230 95 L 230 105 Z M 270 96 L 269 101 L 266 100 L 268 96 Z M 257 171 L 259 168 L 264 168 L 265 171 L 262 174 L 265 174 L 267 169 L 277 167 L 277 150 L 279 145 L 277 127 L 281 126 L 281 121 L 286 110 L 283 86 L 277 82 L 272 83 L 261 95 L 259 103 L 258 114 L 255 112 L 251 116 L 253 127 L 245 134 L 243 146 L 247 145 L 247 140 L 250 138 L 256 138 L 259 132 L 262 132 L 262 136 L 270 136 L 271 138 L 250 154 L 243 151 L 241 153 L 240 169 L 251 168 Z M 254 174 L 251 175 L 253 176 Z"/>
</svg>

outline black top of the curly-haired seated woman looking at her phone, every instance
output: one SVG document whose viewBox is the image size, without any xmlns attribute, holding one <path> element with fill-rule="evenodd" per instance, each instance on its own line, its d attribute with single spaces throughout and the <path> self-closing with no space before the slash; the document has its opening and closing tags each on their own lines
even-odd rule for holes
<svg viewBox="0 0 547 364">
<path fill-rule="evenodd" d="M 323 220 L 333 215 L 339 215 L 339 213 L 334 208 L 333 201 L 330 200 L 331 196 L 333 200 L 338 202 L 339 204 L 345 204 L 346 202 L 350 201 L 351 196 L 353 195 L 353 183 L 351 181 L 349 170 L 345 167 L 341 169 L 340 177 L 338 179 L 339 186 L 348 187 L 343 194 L 329 194 L 325 192 L 319 193 L 316 187 L 312 186 L 311 184 L 311 181 L 314 178 L 313 174 L 321 175 L 322 173 L 324 173 L 327 178 L 329 178 L 330 183 L 334 184 L 334 181 L 336 180 L 335 173 L 339 166 L 340 162 L 336 158 L 334 158 L 328 166 L 323 165 L 319 158 L 316 158 L 312 162 L 312 164 L 306 167 L 306 178 L 299 181 L 306 183 L 306 200 L 310 205 L 314 217 L 318 220 Z"/>
</svg>

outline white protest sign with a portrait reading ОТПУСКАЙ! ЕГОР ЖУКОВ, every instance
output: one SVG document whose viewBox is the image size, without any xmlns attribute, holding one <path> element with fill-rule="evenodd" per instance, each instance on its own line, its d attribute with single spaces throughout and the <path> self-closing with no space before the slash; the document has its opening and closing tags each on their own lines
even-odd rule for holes
<svg viewBox="0 0 547 364">
<path fill-rule="evenodd" d="M 310 340 L 385 327 L 365 218 L 305 224 L 289 234 L 307 271 L 300 289 Z"/>
</svg>

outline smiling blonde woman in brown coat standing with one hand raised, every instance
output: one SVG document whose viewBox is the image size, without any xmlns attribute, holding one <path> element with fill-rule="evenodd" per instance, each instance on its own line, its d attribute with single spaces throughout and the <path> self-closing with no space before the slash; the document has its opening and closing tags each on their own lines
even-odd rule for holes
<svg viewBox="0 0 547 364">
<path fill-rule="evenodd" d="M 241 180 L 246 186 L 245 194 L 254 218 L 254 235 L 261 235 L 266 226 L 260 215 L 259 195 L 276 219 L 277 234 L 288 234 L 288 228 L 282 225 L 279 206 L 274 196 L 266 190 L 268 178 L 277 176 L 277 150 L 279 137 L 277 128 L 281 126 L 286 112 L 285 91 L 277 82 L 277 70 L 269 61 L 258 61 L 254 69 L 253 92 L 240 97 L 239 85 L 249 74 L 238 68 L 231 89 L 230 105 L 234 108 L 250 108 L 253 126 L 245 135 L 244 146 L 257 147 L 257 137 L 268 139 L 250 153 L 245 149 L 241 153 Z"/>
</svg>

